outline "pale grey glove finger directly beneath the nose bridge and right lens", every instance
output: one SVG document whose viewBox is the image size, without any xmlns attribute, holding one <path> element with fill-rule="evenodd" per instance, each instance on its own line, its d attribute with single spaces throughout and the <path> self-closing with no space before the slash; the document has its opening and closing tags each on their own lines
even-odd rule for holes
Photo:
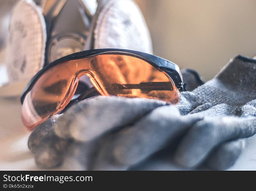
<svg viewBox="0 0 256 191">
<path fill-rule="evenodd" d="M 69 124 L 56 123 L 54 129 L 60 136 L 63 125 L 66 125 L 65 128 L 69 128 L 72 138 L 78 141 L 89 141 L 113 128 L 134 123 L 153 109 L 167 104 L 164 101 L 143 98 L 100 96 L 88 101 L 88 106 L 77 113 Z M 63 115 L 63 117 L 66 116 Z"/>
</svg>

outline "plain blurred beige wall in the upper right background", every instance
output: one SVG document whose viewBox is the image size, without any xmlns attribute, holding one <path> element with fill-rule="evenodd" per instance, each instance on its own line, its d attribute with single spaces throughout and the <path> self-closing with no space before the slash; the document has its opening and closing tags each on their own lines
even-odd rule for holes
<svg viewBox="0 0 256 191">
<path fill-rule="evenodd" d="M 256 56 L 256 1 L 135 0 L 154 54 L 196 69 L 205 80 L 237 54 Z"/>
</svg>

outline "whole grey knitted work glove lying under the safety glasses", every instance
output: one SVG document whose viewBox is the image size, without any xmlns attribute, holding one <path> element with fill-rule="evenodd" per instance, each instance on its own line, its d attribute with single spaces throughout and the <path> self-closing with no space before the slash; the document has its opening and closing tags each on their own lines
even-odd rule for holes
<svg viewBox="0 0 256 191">
<path fill-rule="evenodd" d="M 237 56 L 212 80 L 182 92 L 174 106 L 157 100 L 96 97 L 31 133 L 39 167 L 126 170 L 161 151 L 174 163 L 227 169 L 244 138 L 256 133 L 256 61 Z"/>
</svg>

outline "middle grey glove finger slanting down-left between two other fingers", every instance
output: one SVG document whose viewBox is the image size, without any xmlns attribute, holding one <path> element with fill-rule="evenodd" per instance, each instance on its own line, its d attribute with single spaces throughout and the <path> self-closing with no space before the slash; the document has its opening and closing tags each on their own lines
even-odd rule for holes
<svg viewBox="0 0 256 191">
<path fill-rule="evenodd" d="M 94 170 L 127 169 L 163 147 L 201 118 L 182 117 L 175 106 L 150 112 L 134 126 L 111 134 L 102 145 Z"/>
</svg>

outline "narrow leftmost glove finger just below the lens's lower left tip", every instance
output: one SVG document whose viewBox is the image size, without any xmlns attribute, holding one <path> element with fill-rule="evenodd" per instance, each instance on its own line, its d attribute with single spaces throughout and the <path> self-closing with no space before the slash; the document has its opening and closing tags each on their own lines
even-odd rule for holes
<svg viewBox="0 0 256 191">
<path fill-rule="evenodd" d="M 54 115 L 47 119 L 45 122 L 38 125 L 37 128 L 29 135 L 28 147 L 32 153 L 35 153 L 38 145 L 47 137 L 50 133 L 52 133 L 53 124 L 56 122 L 56 119 L 61 115 Z"/>
</svg>

